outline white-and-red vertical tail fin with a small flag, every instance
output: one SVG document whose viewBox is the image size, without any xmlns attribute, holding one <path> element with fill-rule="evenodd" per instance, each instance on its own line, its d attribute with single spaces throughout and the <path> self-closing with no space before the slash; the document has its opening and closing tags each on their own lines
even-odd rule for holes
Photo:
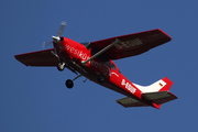
<svg viewBox="0 0 198 132">
<path fill-rule="evenodd" d="M 169 91 L 169 88 L 172 87 L 173 82 L 167 77 L 150 85 L 150 86 L 140 86 L 136 84 L 133 84 L 136 88 L 139 88 L 143 94 L 147 92 L 157 92 L 157 91 Z"/>
</svg>

